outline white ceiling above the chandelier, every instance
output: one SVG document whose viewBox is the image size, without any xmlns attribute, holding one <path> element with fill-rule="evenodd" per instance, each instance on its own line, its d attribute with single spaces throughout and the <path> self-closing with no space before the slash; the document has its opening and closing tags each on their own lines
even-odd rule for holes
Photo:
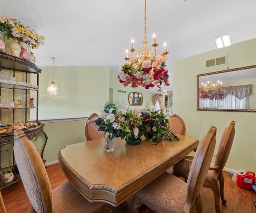
<svg viewBox="0 0 256 213">
<path fill-rule="evenodd" d="M 17 18 L 46 38 L 33 50 L 36 65 L 110 66 L 125 62 L 125 49 L 144 40 L 144 0 L 1 0 L 0 14 Z M 256 37 L 255 0 L 148 0 L 146 40 L 156 33 L 159 54 L 167 42 L 172 90 L 175 60 L 216 49 L 214 39 L 230 34 L 232 44 Z M 150 89 L 157 93 L 158 88 Z"/>
</svg>

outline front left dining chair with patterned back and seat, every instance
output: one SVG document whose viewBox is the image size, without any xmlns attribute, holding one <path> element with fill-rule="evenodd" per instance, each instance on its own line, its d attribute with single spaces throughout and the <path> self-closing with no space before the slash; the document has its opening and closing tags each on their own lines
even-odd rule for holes
<svg viewBox="0 0 256 213">
<path fill-rule="evenodd" d="M 21 129 L 14 131 L 14 156 L 34 213 L 102 212 L 105 203 L 90 203 L 66 181 L 52 190 L 44 163 Z"/>
</svg>

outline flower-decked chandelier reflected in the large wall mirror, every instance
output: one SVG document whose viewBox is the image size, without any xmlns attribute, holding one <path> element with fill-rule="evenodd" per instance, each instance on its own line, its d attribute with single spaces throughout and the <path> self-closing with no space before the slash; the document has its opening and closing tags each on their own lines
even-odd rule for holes
<svg viewBox="0 0 256 213">
<path fill-rule="evenodd" d="M 225 90 L 222 90 L 222 82 L 219 80 L 214 83 L 214 82 L 207 82 L 202 83 L 202 90 L 200 92 L 200 98 L 202 99 L 207 99 L 209 98 L 210 100 L 222 100 L 225 94 Z"/>
</svg>

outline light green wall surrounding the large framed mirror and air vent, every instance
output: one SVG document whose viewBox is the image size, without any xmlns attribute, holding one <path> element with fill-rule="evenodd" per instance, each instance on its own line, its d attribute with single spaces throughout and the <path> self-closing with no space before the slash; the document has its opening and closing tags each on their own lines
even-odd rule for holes
<svg viewBox="0 0 256 213">
<path fill-rule="evenodd" d="M 222 56 L 228 56 L 228 64 L 205 68 L 206 60 Z M 224 128 L 230 121 L 236 121 L 236 134 L 225 166 L 235 171 L 243 169 L 256 172 L 256 113 L 197 111 L 196 75 L 226 70 L 227 67 L 232 69 L 254 65 L 255 58 L 256 39 L 252 39 L 174 62 L 173 110 L 174 113 L 180 111 L 186 123 L 186 135 L 202 139 L 212 125 L 216 126 L 216 153 Z"/>
</svg>

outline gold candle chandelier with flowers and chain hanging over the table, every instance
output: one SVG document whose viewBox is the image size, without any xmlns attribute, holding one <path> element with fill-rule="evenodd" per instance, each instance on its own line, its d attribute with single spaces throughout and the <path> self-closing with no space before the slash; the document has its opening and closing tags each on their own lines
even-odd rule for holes
<svg viewBox="0 0 256 213">
<path fill-rule="evenodd" d="M 144 10 L 144 42 L 143 46 L 138 51 L 136 58 L 134 58 L 134 38 L 132 38 L 132 48 L 130 52 L 131 56 L 128 56 L 128 49 L 126 48 L 126 63 L 120 67 L 118 78 L 119 82 L 123 86 L 128 86 L 132 84 L 132 88 L 142 86 L 146 89 L 150 87 L 157 86 L 159 88 L 158 92 L 161 91 L 161 84 L 164 83 L 165 86 L 169 86 L 168 83 L 169 76 L 168 70 L 165 69 L 166 65 L 166 55 L 168 54 L 166 50 L 166 42 L 164 42 L 164 50 L 161 55 L 156 55 L 158 44 L 156 43 L 156 34 L 153 32 L 152 35 L 153 44 L 152 49 L 147 49 L 148 42 L 146 41 L 146 0 L 145 0 L 145 10 Z"/>
</svg>

